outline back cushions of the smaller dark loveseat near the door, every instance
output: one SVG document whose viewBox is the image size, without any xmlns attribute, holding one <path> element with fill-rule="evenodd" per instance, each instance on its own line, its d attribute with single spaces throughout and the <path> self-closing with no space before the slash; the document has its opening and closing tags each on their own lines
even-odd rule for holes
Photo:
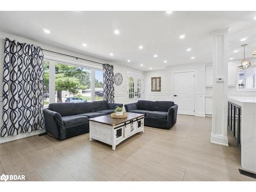
<svg viewBox="0 0 256 192">
<path fill-rule="evenodd" d="M 137 104 L 138 110 L 147 110 L 147 111 L 163 111 L 168 112 L 169 108 L 174 105 L 173 101 L 147 101 L 140 100 Z"/>
</svg>

